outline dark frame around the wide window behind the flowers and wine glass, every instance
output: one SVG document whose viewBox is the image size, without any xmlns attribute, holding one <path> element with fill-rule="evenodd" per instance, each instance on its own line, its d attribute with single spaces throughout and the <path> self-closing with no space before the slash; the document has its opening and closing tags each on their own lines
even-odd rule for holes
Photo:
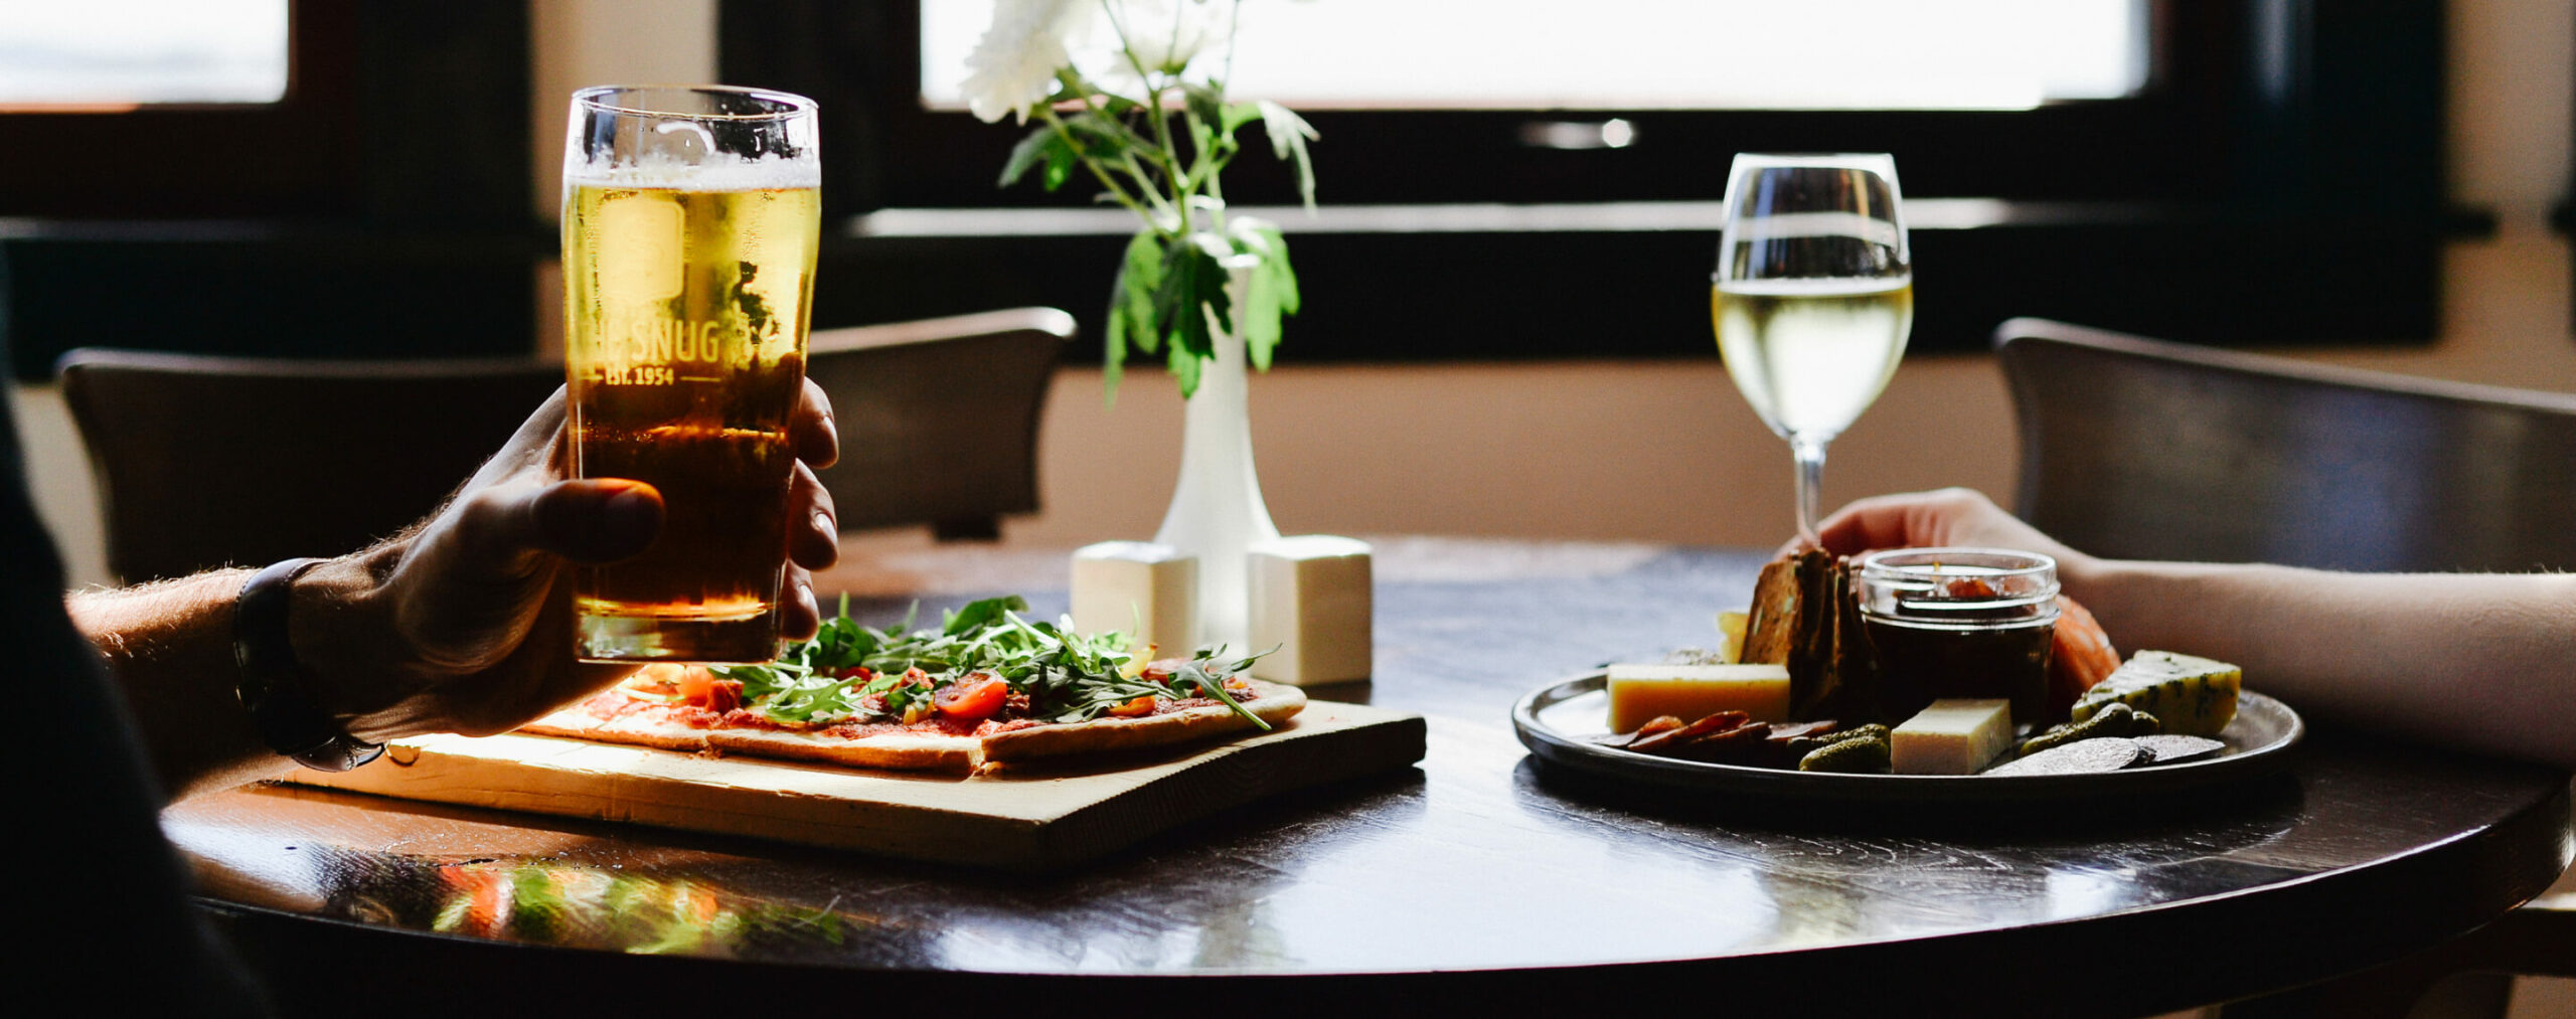
<svg viewBox="0 0 2576 1019">
<path fill-rule="evenodd" d="M 997 190 L 994 172 L 1023 131 L 920 106 L 909 3 L 721 0 L 719 26 L 726 80 L 822 100 L 835 221 L 876 208 L 1087 203 L 1079 188 Z M 1558 118 L 1546 111 L 1314 111 L 1319 198 L 1713 201 L 1739 149 L 1893 152 L 1909 198 L 2007 208 L 1976 229 L 1917 229 L 1914 350 L 1984 350 L 1986 332 L 2014 314 L 2200 342 L 2429 342 L 2439 244 L 2491 229 L 2483 214 L 2445 203 L 2442 0 L 2156 0 L 2148 31 L 2141 95 L 2035 111 L 1582 113 L 1633 121 L 1638 142 L 1625 149 L 1522 147 L 1522 124 Z M 1255 152 L 1229 170 L 1226 193 L 1280 203 L 1288 183 Z M 1672 291 L 1705 288 L 1713 232 L 1358 237 L 1285 226 L 1314 283 L 1291 324 L 1296 360 L 1708 350 L 1705 298 L 1674 301 Z M 1043 301 L 1097 329 L 1115 242 L 886 239 L 853 226 L 827 247 L 850 280 L 822 275 L 817 322 Z M 1064 280 L 1061 268 L 1084 257 L 1100 278 Z M 1327 286 L 1327 273 L 1347 273 L 1360 291 Z M 1368 286 L 1386 278 L 1417 286 Z M 1643 296 L 1656 311 L 1602 319 L 1597 304 L 1618 298 L 1535 317 L 1528 306 L 1476 311 L 1489 293 L 1551 288 Z M 1443 314 L 1414 317 L 1404 304 Z M 1425 337 L 1432 324 L 1479 340 Z"/>
</svg>

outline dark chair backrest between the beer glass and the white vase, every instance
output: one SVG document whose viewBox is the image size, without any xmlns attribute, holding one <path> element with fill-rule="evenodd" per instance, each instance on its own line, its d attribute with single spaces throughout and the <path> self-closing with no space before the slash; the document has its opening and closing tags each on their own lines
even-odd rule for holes
<svg viewBox="0 0 2576 1019">
<path fill-rule="evenodd" d="M 1072 335 L 1056 309 L 817 329 L 806 378 L 840 422 L 822 471 L 840 528 L 999 538 L 1005 512 L 1036 512 L 1038 417 Z"/>
</svg>

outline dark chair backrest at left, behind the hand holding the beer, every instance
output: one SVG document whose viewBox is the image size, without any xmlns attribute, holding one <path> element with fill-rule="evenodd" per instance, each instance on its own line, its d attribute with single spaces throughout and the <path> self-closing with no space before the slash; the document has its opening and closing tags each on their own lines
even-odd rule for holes
<svg viewBox="0 0 2576 1019">
<path fill-rule="evenodd" d="M 363 548 L 435 510 L 564 383 L 536 358 L 72 350 L 57 373 L 126 582 Z"/>
</svg>

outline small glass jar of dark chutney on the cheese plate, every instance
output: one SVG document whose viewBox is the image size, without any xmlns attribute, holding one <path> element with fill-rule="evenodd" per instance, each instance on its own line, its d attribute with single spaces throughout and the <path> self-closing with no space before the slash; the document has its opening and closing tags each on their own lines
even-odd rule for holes
<svg viewBox="0 0 2576 1019">
<path fill-rule="evenodd" d="M 1896 548 L 1860 558 L 1860 630 L 1878 708 L 1906 721 L 1940 697 L 2004 697 L 2012 721 L 2048 710 L 2058 561 L 2009 548 Z"/>
</svg>

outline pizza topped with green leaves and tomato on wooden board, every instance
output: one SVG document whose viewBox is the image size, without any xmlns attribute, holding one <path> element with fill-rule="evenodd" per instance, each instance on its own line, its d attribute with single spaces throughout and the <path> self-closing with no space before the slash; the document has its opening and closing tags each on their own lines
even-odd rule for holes
<svg viewBox="0 0 2576 1019">
<path fill-rule="evenodd" d="M 528 726 L 677 751 L 961 772 L 1267 731 L 1306 708 L 1252 659 L 1144 661 L 1118 633 L 974 602 L 940 630 L 871 630 L 848 610 L 765 666 L 644 666 Z"/>
</svg>

